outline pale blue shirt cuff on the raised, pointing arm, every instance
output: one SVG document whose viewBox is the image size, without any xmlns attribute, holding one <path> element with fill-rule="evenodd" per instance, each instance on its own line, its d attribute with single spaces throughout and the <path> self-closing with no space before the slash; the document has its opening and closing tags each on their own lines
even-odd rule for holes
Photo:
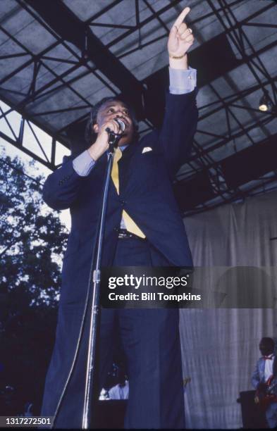
<svg viewBox="0 0 277 431">
<path fill-rule="evenodd" d="M 186 94 L 192 92 L 196 87 L 197 70 L 188 68 L 169 68 L 169 92 L 171 94 Z"/>
</svg>

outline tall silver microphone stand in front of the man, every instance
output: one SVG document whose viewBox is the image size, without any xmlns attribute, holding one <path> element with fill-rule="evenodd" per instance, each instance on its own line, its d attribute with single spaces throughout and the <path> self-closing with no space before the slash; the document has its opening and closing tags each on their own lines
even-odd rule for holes
<svg viewBox="0 0 277 431">
<path fill-rule="evenodd" d="M 106 224 L 106 206 L 108 201 L 109 182 L 111 177 L 111 165 L 113 161 L 114 149 L 118 146 L 118 141 L 122 135 L 117 135 L 111 130 L 109 133 L 109 149 L 107 150 L 108 163 L 106 166 L 104 189 L 102 194 L 102 205 L 100 221 L 97 228 L 97 253 L 94 265 L 94 254 L 92 256 L 89 289 L 92 289 L 92 304 L 90 307 L 90 335 L 87 349 L 87 370 L 85 377 L 85 400 L 82 411 L 82 430 L 90 429 L 92 416 L 93 387 L 95 385 L 95 363 L 96 363 L 96 342 L 97 327 L 99 324 L 99 299 L 100 299 L 100 280 L 101 280 L 101 253 L 103 249 L 104 230 Z"/>
</svg>

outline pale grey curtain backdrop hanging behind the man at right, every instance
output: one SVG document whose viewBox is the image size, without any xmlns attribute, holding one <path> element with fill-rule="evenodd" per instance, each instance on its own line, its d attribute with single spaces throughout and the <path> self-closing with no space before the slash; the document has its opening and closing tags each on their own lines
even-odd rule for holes
<svg viewBox="0 0 277 431">
<path fill-rule="evenodd" d="M 230 281 L 236 285 L 233 280 L 240 278 L 235 295 L 245 290 L 248 299 L 254 298 L 254 308 L 180 311 L 183 376 L 191 377 L 185 392 L 186 425 L 238 428 L 242 420 L 236 400 L 240 391 L 252 389 L 259 340 L 277 333 L 277 239 L 271 239 L 277 237 L 277 193 L 193 215 L 185 218 L 185 226 L 195 266 L 205 267 L 194 286 L 230 294 Z M 245 266 L 254 268 L 242 280 Z M 261 287 L 258 294 L 252 293 L 253 280 Z M 264 298 L 272 308 L 258 308 Z"/>
</svg>

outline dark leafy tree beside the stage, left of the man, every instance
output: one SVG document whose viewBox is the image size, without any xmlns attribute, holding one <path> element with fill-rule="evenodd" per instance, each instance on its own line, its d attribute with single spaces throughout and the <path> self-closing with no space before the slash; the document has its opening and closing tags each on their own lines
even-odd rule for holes
<svg viewBox="0 0 277 431">
<path fill-rule="evenodd" d="M 32 179 L 17 158 L 1 156 L 0 389 L 15 387 L 23 408 L 42 394 L 68 231 L 42 201 L 44 178 Z"/>
</svg>

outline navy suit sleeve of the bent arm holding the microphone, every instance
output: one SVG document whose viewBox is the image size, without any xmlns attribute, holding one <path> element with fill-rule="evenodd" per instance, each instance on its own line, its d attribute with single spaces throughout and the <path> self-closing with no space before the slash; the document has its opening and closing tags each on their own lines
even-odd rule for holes
<svg viewBox="0 0 277 431">
<path fill-rule="evenodd" d="M 84 178 L 73 168 L 73 156 L 64 157 L 61 168 L 51 173 L 44 183 L 44 201 L 55 210 L 70 208 L 78 199 Z"/>
</svg>

